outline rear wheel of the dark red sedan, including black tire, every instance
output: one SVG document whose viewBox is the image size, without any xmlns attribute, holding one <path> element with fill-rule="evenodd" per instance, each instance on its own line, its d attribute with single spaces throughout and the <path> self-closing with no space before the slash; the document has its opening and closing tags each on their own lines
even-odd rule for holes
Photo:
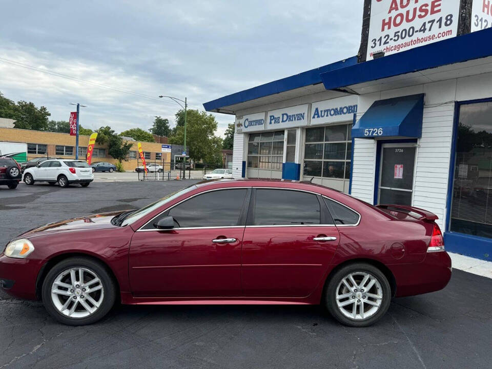
<svg viewBox="0 0 492 369">
<path fill-rule="evenodd" d="M 340 323 L 368 326 L 381 319 L 388 310 L 391 287 L 385 275 L 373 265 L 348 264 L 330 278 L 324 300 Z"/>
</svg>

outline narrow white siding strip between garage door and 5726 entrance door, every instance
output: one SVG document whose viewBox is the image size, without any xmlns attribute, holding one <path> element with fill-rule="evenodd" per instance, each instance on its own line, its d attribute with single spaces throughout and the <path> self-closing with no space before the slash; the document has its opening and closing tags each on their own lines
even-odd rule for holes
<svg viewBox="0 0 492 369">
<path fill-rule="evenodd" d="M 356 138 L 353 150 L 352 195 L 372 204 L 374 202 L 376 140 Z"/>
</svg>

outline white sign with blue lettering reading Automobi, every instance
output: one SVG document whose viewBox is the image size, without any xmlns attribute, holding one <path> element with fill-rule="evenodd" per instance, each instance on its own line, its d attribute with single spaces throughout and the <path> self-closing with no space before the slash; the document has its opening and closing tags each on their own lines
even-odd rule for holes
<svg viewBox="0 0 492 369">
<path fill-rule="evenodd" d="M 311 107 L 311 125 L 352 120 L 355 113 L 357 113 L 356 95 L 318 101 Z"/>
</svg>

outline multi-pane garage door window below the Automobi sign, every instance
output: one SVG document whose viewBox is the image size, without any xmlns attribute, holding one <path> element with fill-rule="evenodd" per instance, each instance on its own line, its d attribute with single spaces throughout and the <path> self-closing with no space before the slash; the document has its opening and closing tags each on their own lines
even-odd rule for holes
<svg viewBox="0 0 492 369">
<path fill-rule="evenodd" d="M 352 124 L 306 129 L 304 175 L 350 179 Z"/>
</svg>

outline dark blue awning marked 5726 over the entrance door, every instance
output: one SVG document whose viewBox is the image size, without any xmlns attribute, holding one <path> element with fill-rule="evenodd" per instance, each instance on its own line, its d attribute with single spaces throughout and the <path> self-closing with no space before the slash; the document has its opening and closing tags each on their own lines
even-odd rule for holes
<svg viewBox="0 0 492 369">
<path fill-rule="evenodd" d="M 376 101 L 352 128 L 354 138 L 422 136 L 424 94 Z"/>
</svg>

